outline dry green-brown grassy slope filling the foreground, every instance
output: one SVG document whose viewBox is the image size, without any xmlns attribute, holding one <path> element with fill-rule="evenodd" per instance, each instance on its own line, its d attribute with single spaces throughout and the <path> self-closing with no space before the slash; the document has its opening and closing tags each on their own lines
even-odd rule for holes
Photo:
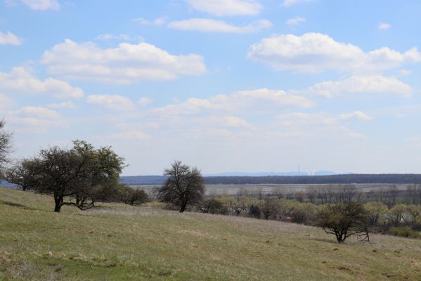
<svg viewBox="0 0 421 281">
<path fill-rule="evenodd" d="M 421 280 L 421 240 L 339 246 L 322 230 L 0 188 L 0 280 Z"/>
</svg>

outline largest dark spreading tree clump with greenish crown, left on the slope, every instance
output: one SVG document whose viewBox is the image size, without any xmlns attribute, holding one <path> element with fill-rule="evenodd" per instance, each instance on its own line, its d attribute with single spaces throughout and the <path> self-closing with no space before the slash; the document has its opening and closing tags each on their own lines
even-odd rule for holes
<svg viewBox="0 0 421 281">
<path fill-rule="evenodd" d="M 54 211 L 60 212 L 63 205 L 84 210 L 112 199 L 123 167 L 124 159 L 110 147 L 96 149 L 85 141 L 74 141 L 71 149 L 43 149 L 6 174 L 8 181 L 22 189 L 53 195 Z"/>
</svg>

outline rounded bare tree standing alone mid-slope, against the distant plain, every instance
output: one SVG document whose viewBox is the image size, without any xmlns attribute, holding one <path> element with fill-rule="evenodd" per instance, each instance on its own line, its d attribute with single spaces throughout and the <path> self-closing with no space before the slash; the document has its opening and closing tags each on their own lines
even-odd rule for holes
<svg viewBox="0 0 421 281">
<path fill-rule="evenodd" d="M 180 213 L 183 213 L 188 205 L 202 201 L 205 181 L 197 168 L 176 161 L 171 164 L 170 169 L 164 171 L 164 176 L 168 177 L 167 181 L 157 189 L 157 197 L 161 201 L 180 207 Z"/>
</svg>

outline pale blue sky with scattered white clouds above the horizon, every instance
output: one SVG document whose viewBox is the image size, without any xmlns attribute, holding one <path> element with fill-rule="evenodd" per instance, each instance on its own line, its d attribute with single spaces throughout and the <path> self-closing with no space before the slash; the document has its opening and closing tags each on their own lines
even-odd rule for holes
<svg viewBox="0 0 421 281">
<path fill-rule="evenodd" d="M 421 173 L 421 1 L 0 0 L 13 157 Z"/>
</svg>

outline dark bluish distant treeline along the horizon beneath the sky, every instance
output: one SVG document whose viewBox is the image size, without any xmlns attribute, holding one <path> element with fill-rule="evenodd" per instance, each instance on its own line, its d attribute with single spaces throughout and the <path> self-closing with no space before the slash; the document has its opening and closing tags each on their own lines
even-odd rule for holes
<svg viewBox="0 0 421 281">
<path fill-rule="evenodd" d="M 160 185 L 164 176 L 122 176 L 129 185 Z M 328 184 L 328 183 L 421 183 L 421 174 L 345 174 L 330 176 L 207 176 L 206 184 Z"/>
</svg>

